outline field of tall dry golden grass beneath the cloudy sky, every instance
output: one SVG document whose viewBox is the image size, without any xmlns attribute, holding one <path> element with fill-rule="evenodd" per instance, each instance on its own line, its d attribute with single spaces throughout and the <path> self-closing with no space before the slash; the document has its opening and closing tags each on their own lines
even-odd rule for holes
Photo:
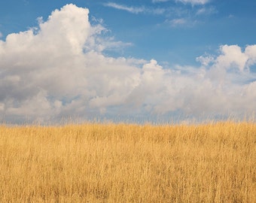
<svg viewBox="0 0 256 203">
<path fill-rule="evenodd" d="M 0 126 L 0 202 L 256 202 L 256 124 Z"/>
</svg>

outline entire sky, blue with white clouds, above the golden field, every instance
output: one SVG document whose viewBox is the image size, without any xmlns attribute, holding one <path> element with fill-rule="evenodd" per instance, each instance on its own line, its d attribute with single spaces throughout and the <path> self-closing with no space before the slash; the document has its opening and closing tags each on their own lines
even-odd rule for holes
<svg viewBox="0 0 256 203">
<path fill-rule="evenodd" d="M 0 122 L 254 117 L 255 8 L 253 0 L 3 0 Z"/>
</svg>

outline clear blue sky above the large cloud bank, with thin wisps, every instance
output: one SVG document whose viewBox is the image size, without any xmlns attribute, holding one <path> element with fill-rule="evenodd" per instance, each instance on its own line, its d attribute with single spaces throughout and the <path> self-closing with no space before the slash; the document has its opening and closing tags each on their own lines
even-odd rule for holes
<svg viewBox="0 0 256 203">
<path fill-rule="evenodd" d="M 52 11 L 69 3 L 89 8 L 90 17 L 103 20 L 117 41 L 131 43 L 121 53 L 111 53 L 115 56 L 185 65 L 205 52 L 215 53 L 222 44 L 255 43 L 256 2 L 252 0 L 8 0 L 0 8 L 2 38 L 37 26 L 38 17 L 47 20 Z"/>
</svg>

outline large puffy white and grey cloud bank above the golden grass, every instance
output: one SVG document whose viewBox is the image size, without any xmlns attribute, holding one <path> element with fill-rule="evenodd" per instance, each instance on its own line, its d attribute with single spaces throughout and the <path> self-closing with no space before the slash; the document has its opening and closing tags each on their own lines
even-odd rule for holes
<svg viewBox="0 0 256 203">
<path fill-rule="evenodd" d="M 173 121 L 256 109 L 256 45 L 223 45 L 218 56 L 199 56 L 198 67 L 163 68 L 155 59 L 105 56 L 112 45 L 88 15 L 66 5 L 39 19 L 38 28 L 0 41 L 2 121 Z"/>
</svg>

